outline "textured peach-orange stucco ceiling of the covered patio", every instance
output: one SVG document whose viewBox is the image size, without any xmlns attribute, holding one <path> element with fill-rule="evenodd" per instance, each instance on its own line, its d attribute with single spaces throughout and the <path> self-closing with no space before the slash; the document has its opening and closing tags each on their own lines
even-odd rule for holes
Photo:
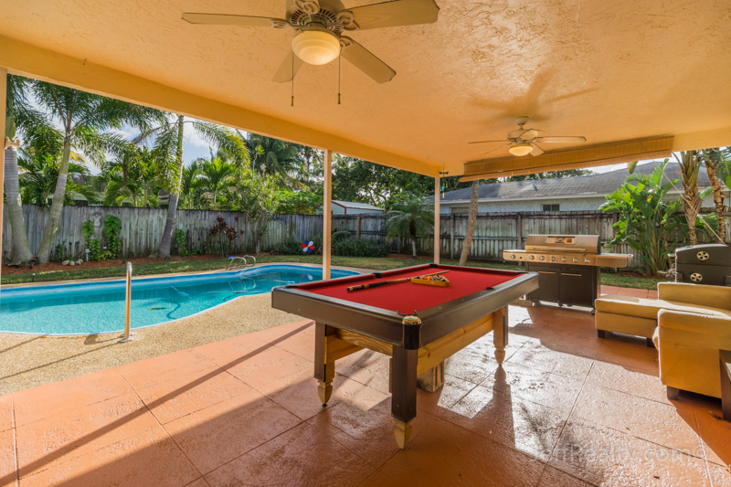
<svg viewBox="0 0 731 487">
<path fill-rule="evenodd" d="M 520 115 L 546 135 L 586 136 L 582 147 L 731 143 L 726 0 L 437 4 L 436 24 L 349 33 L 397 76 L 377 84 L 343 61 L 340 105 L 337 61 L 300 69 L 294 107 L 291 84 L 271 80 L 291 29 L 180 18 L 281 17 L 284 0 L 6 0 L 0 67 L 431 176 L 486 157 L 527 167 L 535 158 L 508 164 L 507 147 L 485 154 L 499 143 L 468 144 L 503 139 Z"/>
</svg>

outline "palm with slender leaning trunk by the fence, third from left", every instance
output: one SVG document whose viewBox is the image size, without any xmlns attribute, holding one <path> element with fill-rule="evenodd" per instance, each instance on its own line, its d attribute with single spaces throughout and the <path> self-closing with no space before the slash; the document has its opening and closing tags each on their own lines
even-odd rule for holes
<svg viewBox="0 0 731 487">
<path fill-rule="evenodd" d="M 170 193 L 170 202 L 167 206 L 167 218 L 160 239 L 157 255 L 167 259 L 170 257 L 170 243 L 175 230 L 175 217 L 180 197 L 185 164 L 183 163 L 183 140 L 185 127 L 190 126 L 198 132 L 208 143 L 215 144 L 234 158 L 236 164 L 249 164 L 249 152 L 236 132 L 215 123 L 199 120 L 185 120 L 184 115 L 173 115 L 153 129 L 143 131 L 134 142 L 141 143 L 154 137 L 154 153 L 159 157 L 161 176 L 164 189 Z"/>
</svg>

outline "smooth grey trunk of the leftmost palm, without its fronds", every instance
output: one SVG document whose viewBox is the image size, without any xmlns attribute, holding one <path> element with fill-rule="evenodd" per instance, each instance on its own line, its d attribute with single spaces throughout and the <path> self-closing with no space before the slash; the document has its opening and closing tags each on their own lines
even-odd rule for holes
<svg viewBox="0 0 731 487">
<path fill-rule="evenodd" d="M 13 232 L 10 263 L 20 265 L 33 259 L 33 253 L 28 245 L 26 218 L 23 217 L 23 203 L 20 200 L 16 145 L 9 139 L 5 139 L 5 145 L 5 197 L 7 198 L 7 217 L 10 219 L 10 228 Z"/>
</svg>

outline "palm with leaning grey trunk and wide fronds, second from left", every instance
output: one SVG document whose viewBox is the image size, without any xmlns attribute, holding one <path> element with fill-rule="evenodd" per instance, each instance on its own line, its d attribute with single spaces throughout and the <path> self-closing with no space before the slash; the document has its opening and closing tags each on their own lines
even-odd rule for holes
<svg viewBox="0 0 731 487">
<path fill-rule="evenodd" d="M 145 131 L 161 112 L 44 81 L 31 81 L 31 92 L 48 118 L 58 119 L 62 126 L 61 132 L 54 131 L 55 143 L 63 149 L 48 223 L 38 249 L 38 261 L 46 264 L 63 210 L 71 149 L 76 147 L 92 161 L 103 164 L 105 153 L 120 150 L 127 143 L 121 135 L 103 131 L 121 128 L 123 123 Z"/>
</svg>

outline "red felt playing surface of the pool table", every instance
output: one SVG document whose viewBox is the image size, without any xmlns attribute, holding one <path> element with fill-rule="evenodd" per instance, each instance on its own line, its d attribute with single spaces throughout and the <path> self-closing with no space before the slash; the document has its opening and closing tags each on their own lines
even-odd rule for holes
<svg viewBox="0 0 731 487">
<path fill-rule="evenodd" d="M 442 274 L 450 281 L 449 286 L 428 286 L 404 281 L 372 289 L 347 291 L 349 286 L 390 281 L 439 272 L 441 270 L 449 270 L 449 272 Z M 469 296 L 478 291 L 493 288 L 503 282 L 523 275 L 524 272 L 455 266 L 432 268 L 429 265 L 425 265 L 405 270 L 387 270 L 382 272 L 382 274 L 383 277 L 381 278 L 376 278 L 374 274 L 364 274 L 338 281 L 319 281 L 297 287 L 302 291 L 309 291 L 322 296 L 400 313 L 410 313 L 414 311 L 420 312 L 433 306 L 439 306 L 445 302 Z"/>
</svg>

